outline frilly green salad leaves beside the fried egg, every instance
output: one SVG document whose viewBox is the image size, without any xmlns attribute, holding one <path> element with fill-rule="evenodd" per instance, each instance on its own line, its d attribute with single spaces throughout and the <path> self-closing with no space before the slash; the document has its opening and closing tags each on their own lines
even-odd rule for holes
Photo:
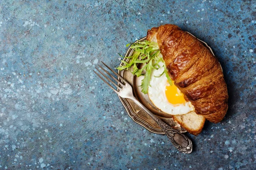
<svg viewBox="0 0 256 170">
<path fill-rule="evenodd" d="M 128 47 L 130 44 L 127 44 Z M 140 77 L 144 76 L 141 82 L 141 91 L 144 94 L 148 93 L 148 86 L 150 86 L 149 82 L 151 79 L 151 72 L 152 69 L 159 69 L 160 65 L 159 62 L 163 62 L 163 58 L 159 57 L 160 49 L 156 42 L 151 41 L 142 41 L 142 42 L 135 42 L 131 45 L 131 48 L 134 49 L 133 54 L 130 57 L 123 57 L 126 58 L 126 61 L 121 60 L 125 65 L 118 67 L 118 70 L 129 70 L 134 76 Z M 119 54 L 120 55 L 120 54 Z M 122 55 L 120 55 L 122 57 Z M 142 64 L 141 68 L 138 68 L 138 64 Z M 166 69 L 166 65 L 163 65 L 164 71 L 160 76 L 164 73 L 166 74 L 166 78 L 170 85 L 172 85 L 172 79 L 168 74 Z M 159 76 L 159 77 L 160 77 Z"/>
</svg>

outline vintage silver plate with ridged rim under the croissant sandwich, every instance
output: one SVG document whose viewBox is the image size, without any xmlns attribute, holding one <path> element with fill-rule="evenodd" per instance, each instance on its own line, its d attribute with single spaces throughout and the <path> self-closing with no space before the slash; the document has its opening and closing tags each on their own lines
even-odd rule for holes
<svg viewBox="0 0 256 170">
<path fill-rule="evenodd" d="M 146 37 L 143 37 L 138 41 L 141 42 L 144 40 L 146 40 Z M 203 42 L 204 45 L 207 48 L 209 48 L 209 50 L 212 52 L 212 49 L 207 45 L 206 42 L 204 42 L 204 41 L 201 41 L 201 42 Z M 133 51 L 134 51 L 134 49 L 128 48 L 128 51 L 126 52 L 125 57 L 130 57 L 133 54 Z M 212 52 L 212 54 L 213 54 L 213 52 Z M 129 59 L 124 58 L 125 62 L 128 62 L 128 60 Z M 122 65 L 125 65 L 125 64 L 121 62 L 119 66 L 122 66 Z M 141 80 L 143 79 L 143 77 L 135 77 L 133 74 L 131 74 L 130 71 L 125 71 L 125 70 L 118 71 L 118 74 L 120 76 L 122 76 L 133 87 L 134 96 L 148 110 L 150 110 L 152 113 L 154 113 L 154 115 L 158 116 L 163 122 L 166 122 L 168 125 L 170 125 L 174 129 L 179 130 L 181 133 L 186 132 L 186 130 L 183 127 L 181 127 L 178 123 L 174 122 L 174 120 L 172 119 L 172 115 L 169 115 L 169 114 L 164 113 L 164 112 L 160 111 L 159 109 L 157 109 L 153 105 L 153 103 L 150 101 L 150 99 L 148 98 L 148 95 L 143 94 L 141 92 L 140 84 L 141 84 Z M 128 115 L 131 117 L 131 119 L 133 119 L 134 122 L 145 127 L 147 130 L 149 130 L 152 133 L 165 134 L 163 132 L 163 130 L 160 128 L 160 126 L 158 126 L 157 123 L 145 111 L 143 111 L 138 105 L 136 105 L 131 99 L 125 99 L 120 96 L 119 96 L 119 99 L 122 102 L 122 104 L 124 105 L 125 110 L 127 111 Z"/>
</svg>

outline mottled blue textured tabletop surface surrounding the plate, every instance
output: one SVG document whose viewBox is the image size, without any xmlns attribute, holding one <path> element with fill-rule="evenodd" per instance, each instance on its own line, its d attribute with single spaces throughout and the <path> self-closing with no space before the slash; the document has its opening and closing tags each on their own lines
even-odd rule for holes
<svg viewBox="0 0 256 170">
<path fill-rule="evenodd" d="M 204 40 L 224 70 L 229 110 L 191 154 L 127 115 L 93 73 L 172 23 Z M 253 169 L 256 2 L 0 0 L 0 169 Z"/>
</svg>

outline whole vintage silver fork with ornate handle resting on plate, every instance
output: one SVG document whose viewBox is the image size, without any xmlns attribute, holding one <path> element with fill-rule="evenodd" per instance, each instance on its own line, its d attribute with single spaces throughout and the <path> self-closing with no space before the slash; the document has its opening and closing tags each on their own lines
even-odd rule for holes
<svg viewBox="0 0 256 170">
<path fill-rule="evenodd" d="M 96 70 L 99 71 L 100 74 L 102 74 L 108 81 L 110 81 L 114 86 L 116 86 L 117 90 L 112 87 L 103 77 L 101 77 L 96 71 L 94 71 L 116 94 L 123 98 L 132 99 L 137 105 L 140 106 L 146 113 L 148 113 L 149 116 L 154 119 L 154 121 L 157 122 L 157 124 L 163 129 L 163 131 L 166 133 L 167 137 L 170 139 L 172 144 L 180 150 L 182 153 L 191 153 L 192 152 L 192 142 L 191 140 L 185 136 L 183 133 L 180 133 L 178 130 L 173 129 L 169 125 L 167 125 L 165 122 L 154 116 L 153 113 L 151 113 L 147 108 L 145 108 L 144 105 L 142 105 L 133 95 L 132 87 L 129 85 L 128 82 L 125 81 L 121 76 L 119 76 L 115 71 L 113 71 L 108 65 L 106 65 L 104 62 L 102 62 L 109 70 L 113 72 L 119 79 L 122 80 L 119 81 L 115 77 L 113 77 L 108 71 L 105 70 L 102 66 L 99 65 L 99 67 L 107 73 L 110 77 L 112 77 L 119 85 L 116 85 L 115 82 L 113 82 L 110 78 L 108 78 L 102 71 L 100 71 L 98 68 Z"/>
</svg>

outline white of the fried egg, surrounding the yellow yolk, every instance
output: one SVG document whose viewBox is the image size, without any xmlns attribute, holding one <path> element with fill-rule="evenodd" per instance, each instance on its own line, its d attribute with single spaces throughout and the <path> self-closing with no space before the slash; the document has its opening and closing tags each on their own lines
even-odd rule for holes
<svg viewBox="0 0 256 170">
<path fill-rule="evenodd" d="M 151 87 L 148 87 L 148 97 L 151 102 L 161 111 L 171 115 L 182 115 L 193 111 L 194 108 L 190 102 L 173 105 L 168 101 L 165 91 L 169 83 L 165 74 L 159 77 L 164 71 L 164 63 L 160 62 L 159 65 L 160 68 L 158 70 L 153 69 L 151 72 L 151 80 L 149 82 Z"/>
</svg>

